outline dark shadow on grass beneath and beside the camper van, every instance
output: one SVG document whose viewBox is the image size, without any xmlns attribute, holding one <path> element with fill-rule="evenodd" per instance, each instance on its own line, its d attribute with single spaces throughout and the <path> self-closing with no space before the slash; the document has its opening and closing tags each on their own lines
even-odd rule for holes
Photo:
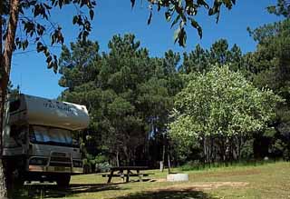
<svg viewBox="0 0 290 199">
<path fill-rule="evenodd" d="M 123 190 L 118 184 L 70 184 L 60 188 L 56 184 L 27 184 L 24 189 L 14 192 L 13 199 L 58 198 L 72 194 L 93 193 L 107 190 Z"/>
</svg>

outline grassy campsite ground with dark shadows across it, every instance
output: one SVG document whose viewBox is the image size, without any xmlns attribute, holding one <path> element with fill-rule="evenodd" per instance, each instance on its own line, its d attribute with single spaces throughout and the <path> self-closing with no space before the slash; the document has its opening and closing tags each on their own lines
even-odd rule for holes
<svg viewBox="0 0 290 199">
<path fill-rule="evenodd" d="M 174 169 L 174 172 L 180 172 Z M 125 184 L 99 174 L 75 175 L 69 189 L 56 185 L 26 185 L 20 198 L 66 199 L 235 199 L 235 198 L 288 198 L 290 199 L 290 164 L 269 163 L 247 166 L 214 167 L 207 170 L 187 171 L 188 183 L 165 181 L 167 172 L 149 171 L 150 181 Z"/>
</svg>

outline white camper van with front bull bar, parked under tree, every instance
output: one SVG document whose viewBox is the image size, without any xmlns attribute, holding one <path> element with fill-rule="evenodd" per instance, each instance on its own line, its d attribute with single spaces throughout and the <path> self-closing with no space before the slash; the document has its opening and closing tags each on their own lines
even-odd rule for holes
<svg viewBox="0 0 290 199">
<path fill-rule="evenodd" d="M 49 181 L 67 186 L 72 174 L 83 171 L 73 134 L 88 124 L 84 105 L 23 94 L 9 97 L 3 158 L 14 183 Z"/>
</svg>

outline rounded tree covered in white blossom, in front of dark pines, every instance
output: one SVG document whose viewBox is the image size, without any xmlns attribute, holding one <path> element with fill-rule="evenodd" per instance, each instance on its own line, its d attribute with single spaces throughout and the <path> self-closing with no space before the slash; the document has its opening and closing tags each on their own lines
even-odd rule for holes
<svg viewBox="0 0 290 199">
<path fill-rule="evenodd" d="M 192 75 L 177 95 L 169 135 L 183 149 L 199 144 L 208 163 L 238 159 L 247 138 L 275 117 L 278 102 L 272 91 L 258 90 L 228 66 L 215 66 Z"/>
</svg>

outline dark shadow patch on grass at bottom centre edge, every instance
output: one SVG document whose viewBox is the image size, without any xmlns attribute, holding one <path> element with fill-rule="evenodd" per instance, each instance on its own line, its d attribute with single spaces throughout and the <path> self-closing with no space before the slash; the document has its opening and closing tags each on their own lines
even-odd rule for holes
<svg viewBox="0 0 290 199">
<path fill-rule="evenodd" d="M 116 197 L 115 199 L 214 199 L 214 197 L 202 191 L 182 189 L 140 192 L 136 194 Z"/>
</svg>

